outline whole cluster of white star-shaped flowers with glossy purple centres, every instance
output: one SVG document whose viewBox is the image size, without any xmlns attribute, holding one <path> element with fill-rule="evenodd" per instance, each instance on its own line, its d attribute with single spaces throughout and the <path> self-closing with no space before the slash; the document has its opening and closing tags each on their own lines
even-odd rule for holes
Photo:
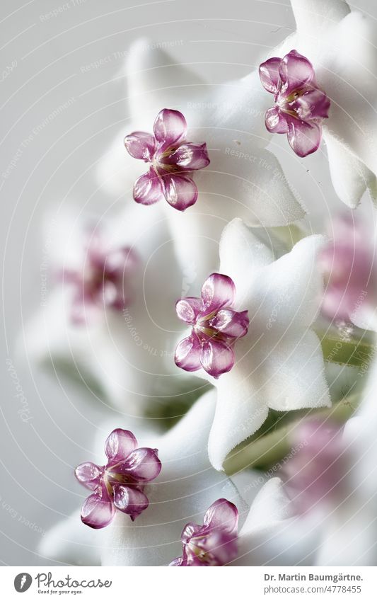
<svg viewBox="0 0 377 601">
<path fill-rule="evenodd" d="M 122 168 L 100 173 L 101 185 L 117 190 L 116 200 L 133 188 L 136 204 L 127 202 L 122 242 L 113 235 L 115 219 L 108 239 L 92 234 L 83 260 L 59 272 L 73 324 L 112 311 L 98 328 L 58 323 L 52 345 L 60 358 L 63 339 L 69 357 L 74 349 L 75 365 L 81 353 L 95 382 L 106 382 L 99 387 L 106 400 L 115 404 L 117 396 L 122 415 L 135 410 L 134 418 L 153 417 L 141 432 L 150 446 L 139 447 L 132 432 L 117 428 L 105 442 L 105 464 L 84 462 L 75 470 L 90 491 L 81 521 L 103 529 L 100 545 L 88 528 L 73 537 L 79 548 L 100 547 L 90 555 L 93 563 L 296 565 L 326 556 L 326 563 L 341 565 L 339 549 L 331 547 L 338 522 L 344 529 L 351 522 L 348 546 L 360 542 L 351 563 L 376 563 L 370 524 L 376 521 L 377 377 L 361 382 L 364 373 L 377 374 L 371 367 L 376 227 L 357 218 L 364 205 L 356 217 L 351 210 L 366 190 L 377 200 L 376 91 L 366 76 L 377 50 L 366 18 L 344 1 L 334 0 L 331 9 L 325 4 L 294 0 L 297 33 L 242 80 L 206 86 L 216 92 L 209 89 L 200 104 L 191 91 L 195 74 L 158 52 L 152 59 L 145 47 L 130 52 L 127 153 L 118 137 Z M 359 54 L 352 50 L 355 39 Z M 149 85 L 151 71 L 158 86 Z M 177 84 L 173 96 L 174 74 L 185 85 Z M 189 94 L 197 104 L 188 102 Z M 163 108 L 172 105 L 185 107 L 185 115 Z M 156 108 L 153 133 L 142 130 Z M 328 161 L 335 192 L 348 205 L 341 217 L 327 207 L 330 228 L 318 206 L 296 198 L 267 150 L 274 133 L 286 134 L 294 164 L 324 139 L 320 159 Z M 108 156 L 112 162 L 114 154 Z M 211 168 L 202 171 L 210 158 Z M 311 159 L 301 162 L 310 166 Z M 175 211 L 158 205 L 161 200 Z M 306 205 L 318 218 L 318 234 L 299 222 Z M 132 314 L 123 311 L 130 304 Z M 55 306 L 50 314 L 48 336 L 59 322 Z M 347 322 L 344 331 L 352 336 L 340 336 L 333 321 Z M 39 343 L 40 323 L 35 331 Z M 161 435 L 153 414 L 158 405 L 168 406 L 169 418 L 185 413 Z M 366 439 L 355 442 L 349 431 L 365 432 Z M 281 477 L 265 483 L 278 469 Z M 226 475 L 239 472 L 247 481 L 242 495 L 237 476 Z M 75 529 L 78 517 L 71 521 Z M 64 533 L 59 537 L 66 541 Z M 72 553 L 70 547 L 68 561 Z"/>
</svg>

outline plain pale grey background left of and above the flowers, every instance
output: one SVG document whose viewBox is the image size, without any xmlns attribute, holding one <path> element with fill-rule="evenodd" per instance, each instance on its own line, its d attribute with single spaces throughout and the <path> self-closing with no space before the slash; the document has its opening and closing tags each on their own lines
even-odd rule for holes
<svg viewBox="0 0 377 601">
<path fill-rule="evenodd" d="M 52 8 L 64 5 L 69 7 L 58 16 L 46 17 Z M 374 0 L 352 6 L 377 16 Z M 0 177 L 1 564 L 47 563 L 35 552 L 37 542 L 81 502 L 83 491 L 72 469 L 78 456 L 85 457 L 83 450 L 90 452 L 101 418 L 112 413 L 95 405 L 87 391 L 54 381 L 18 359 L 16 338 L 40 305 L 46 244 L 42 219 L 47 207 L 53 210 L 74 199 L 78 208 L 98 210 L 103 202 L 95 161 L 128 116 L 124 80 L 112 81 L 122 69 L 116 53 L 126 51 L 141 35 L 171 42 L 178 61 L 216 83 L 247 74 L 292 30 L 287 0 L 1 0 L 1 173 L 13 155 L 19 155 L 11 174 Z M 103 66 L 85 69 L 109 55 Z M 6 71 L 7 67 L 13 68 Z M 67 108 L 25 142 L 33 128 L 64 103 L 69 103 Z M 306 170 L 297 178 L 297 161 L 290 164 L 285 157 L 282 153 L 279 159 L 288 175 L 296 176 L 294 185 L 311 205 L 314 219 L 323 199 L 308 190 Z M 325 202 L 339 202 L 323 158 L 309 158 L 307 164 Z M 18 413 L 15 382 L 28 403 L 27 422 Z"/>
</svg>

